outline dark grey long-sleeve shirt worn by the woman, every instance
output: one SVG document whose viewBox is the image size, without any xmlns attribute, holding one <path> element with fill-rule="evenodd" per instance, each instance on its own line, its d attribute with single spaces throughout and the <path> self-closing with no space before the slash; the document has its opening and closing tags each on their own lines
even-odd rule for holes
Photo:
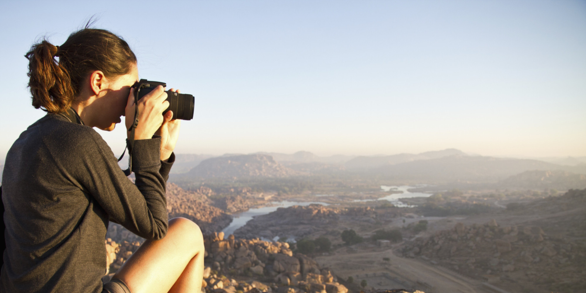
<svg viewBox="0 0 586 293">
<path fill-rule="evenodd" d="M 22 132 L 2 175 L 0 291 L 101 292 L 108 220 L 146 239 L 162 239 L 172 163 L 161 162 L 160 144 L 160 138 L 135 141 L 132 183 L 90 127 L 47 114 Z"/>
</svg>

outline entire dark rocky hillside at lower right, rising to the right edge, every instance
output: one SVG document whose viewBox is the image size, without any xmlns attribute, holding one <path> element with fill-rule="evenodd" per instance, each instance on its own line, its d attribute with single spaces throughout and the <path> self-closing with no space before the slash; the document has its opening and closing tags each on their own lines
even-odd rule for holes
<svg viewBox="0 0 586 293">
<path fill-rule="evenodd" d="M 407 241 L 397 253 L 513 292 L 586 291 L 586 190 L 509 206 L 506 213 L 519 224 L 456 223 L 454 229 Z"/>
</svg>

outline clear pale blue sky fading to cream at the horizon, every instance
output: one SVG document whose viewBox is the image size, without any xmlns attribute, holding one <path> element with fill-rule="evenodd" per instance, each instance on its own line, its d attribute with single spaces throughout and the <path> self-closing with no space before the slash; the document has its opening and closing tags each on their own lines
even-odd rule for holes
<svg viewBox="0 0 586 293">
<path fill-rule="evenodd" d="M 44 115 L 23 55 L 96 13 L 196 97 L 178 153 L 586 155 L 586 1 L 0 1 L 0 160 Z"/>
</svg>

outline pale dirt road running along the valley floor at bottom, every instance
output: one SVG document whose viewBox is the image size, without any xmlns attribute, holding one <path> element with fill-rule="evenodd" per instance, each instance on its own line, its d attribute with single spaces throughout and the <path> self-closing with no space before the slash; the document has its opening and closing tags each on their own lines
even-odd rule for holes
<svg viewBox="0 0 586 293">
<path fill-rule="evenodd" d="M 470 292 L 488 293 L 481 288 L 481 282 L 458 275 L 456 272 L 441 268 L 413 258 L 401 258 L 389 250 L 359 251 L 346 253 L 340 248 L 333 255 L 322 255 L 315 260 L 322 267 L 329 267 L 339 277 L 352 276 L 355 282 L 366 280 L 369 286 L 379 289 L 392 289 L 397 285 L 433 292 Z M 389 258 L 390 261 L 384 261 Z M 388 287 L 393 286 L 393 287 Z"/>
</svg>

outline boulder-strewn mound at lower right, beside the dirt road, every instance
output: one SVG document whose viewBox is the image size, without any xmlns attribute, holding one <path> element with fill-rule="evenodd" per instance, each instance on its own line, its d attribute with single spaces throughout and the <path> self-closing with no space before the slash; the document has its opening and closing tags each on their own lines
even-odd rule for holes
<svg viewBox="0 0 586 293">
<path fill-rule="evenodd" d="M 408 241 L 398 253 L 489 282 L 504 278 L 538 284 L 537 288 L 546 290 L 560 287 L 539 287 L 539 284 L 560 282 L 568 288 L 584 289 L 586 250 L 583 247 L 580 241 L 552 239 L 539 226 L 503 227 L 490 220 L 469 226 L 456 223 L 454 229 Z"/>
</svg>

